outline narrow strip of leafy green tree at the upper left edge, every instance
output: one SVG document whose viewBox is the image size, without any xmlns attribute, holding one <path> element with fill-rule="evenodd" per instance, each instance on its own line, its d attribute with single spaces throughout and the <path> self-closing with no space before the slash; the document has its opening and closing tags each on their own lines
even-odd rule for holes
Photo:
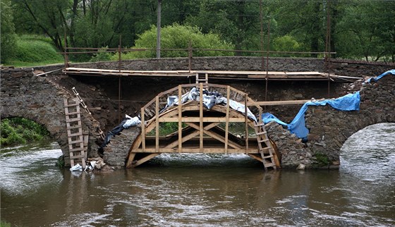
<svg viewBox="0 0 395 227">
<path fill-rule="evenodd" d="M 0 1 L 0 54 L 1 63 L 6 62 L 7 59 L 13 57 L 13 52 L 16 48 L 16 34 L 13 24 L 13 11 L 11 8 L 11 1 Z"/>
</svg>

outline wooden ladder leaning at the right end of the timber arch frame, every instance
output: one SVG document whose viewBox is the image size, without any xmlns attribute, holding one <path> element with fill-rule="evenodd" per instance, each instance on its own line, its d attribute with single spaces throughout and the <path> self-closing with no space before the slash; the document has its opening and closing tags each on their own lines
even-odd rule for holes
<svg viewBox="0 0 395 227">
<path fill-rule="evenodd" d="M 276 169 L 276 162 L 274 161 L 274 149 L 272 147 L 272 143 L 270 143 L 269 137 L 267 137 L 265 123 L 261 121 L 254 123 L 254 126 L 255 134 L 257 135 L 258 149 L 260 156 L 262 157 L 262 163 L 263 166 L 265 166 L 265 170 L 267 170 L 269 167 Z M 269 151 L 269 154 L 265 154 L 265 151 Z"/>
</svg>

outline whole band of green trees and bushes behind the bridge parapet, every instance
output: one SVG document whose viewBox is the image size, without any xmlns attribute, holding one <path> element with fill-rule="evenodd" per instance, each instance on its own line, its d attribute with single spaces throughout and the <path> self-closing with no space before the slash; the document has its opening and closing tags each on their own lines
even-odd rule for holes
<svg viewBox="0 0 395 227">
<path fill-rule="evenodd" d="M 6 49 L 16 46 L 13 25 L 18 34 L 44 34 L 59 51 L 64 48 L 65 31 L 68 47 L 114 48 L 118 47 L 121 37 L 123 47 L 156 49 L 156 28 L 152 26 L 157 23 L 156 0 L 11 2 L 12 6 L 10 0 L 1 0 L 1 61 L 16 52 Z M 336 51 L 336 57 L 395 62 L 394 11 L 395 1 L 292 1 L 292 4 L 284 4 L 280 0 L 166 0 L 162 1 L 162 48 L 188 48 L 191 40 L 193 48 L 265 50 L 270 35 L 271 50 L 322 52 L 327 49 L 329 15 L 329 44 L 330 50 Z M 166 29 L 170 35 L 166 34 Z M 6 40 L 11 44 L 3 45 Z M 155 52 L 133 51 L 123 54 L 123 59 L 153 57 Z M 214 54 L 225 56 L 233 52 L 200 51 L 193 56 Z M 161 56 L 188 56 L 188 52 L 161 51 Z M 98 53 L 97 56 L 71 55 L 70 59 L 102 61 L 108 57 Z M 111 59 L 118 60 L 118 56 L 111 55 Z"/>
</svg>

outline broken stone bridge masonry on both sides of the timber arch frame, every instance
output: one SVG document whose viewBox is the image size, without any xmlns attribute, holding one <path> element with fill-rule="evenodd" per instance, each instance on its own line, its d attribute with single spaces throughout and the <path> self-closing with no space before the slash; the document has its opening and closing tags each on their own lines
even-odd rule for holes
<svg viewBox="0 0 395 227">
<path fill-rule="evenodd" d="M 350 91 L 356 90 L 360 90 L 360 111 L 337 111 L 330 106 L 309 107 L 305 114 L 306 126 L 310 130 L 308 142 L 302 142 L 277 123 L 265 125 L 281 154 L 281 167 L 295 168 L 298 164 L 337 166 L 340 148 L 353 133 L 368 125 L 395 122 L 395 75 L 389 74 L 377 82 L 354 82 Z M 35 75 L 31 68 L 1 71 L 1 118 L 19 116 L 44 125 L 59 143 L 66 163 L 68 137 L 63 99 L 73 97 L 72 92 L 48 78 Z M 90 135 L 88 157 L 98 157 L 97 151 L 102 142 L 100 124 L 84 111 L 82 122 L 83 130 Z M 121 136 L 114 137 L 113 144 L 119 145 L 104 152 L 104 161 L 111 166 L 125 165 L 130 143 L 140 133 L 136 128 L 124 131 Z M 327 157 L 327 162 L 320 162 L 317 154 Z"/>
</svg>

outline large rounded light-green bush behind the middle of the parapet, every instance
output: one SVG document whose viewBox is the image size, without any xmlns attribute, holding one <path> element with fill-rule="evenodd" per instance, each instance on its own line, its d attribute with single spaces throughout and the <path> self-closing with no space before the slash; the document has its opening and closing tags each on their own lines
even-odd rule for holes
<svg viewBox="0 0 395 227">
<path fill-rule="evenodd" d="M 233 45 L 219 39 L 214 33 L 203 34 L 197 27 L 188 25 L 169 25 L 161 30 L 162 49 L 188 49 L 189 42 L 195 49 L 233 49 Z M 156 49 L 157 27 L 153 26 L 145 31 L 135 41 L 135 49 Z M 229 56 L 233 52 L 228 51 L 194 51 L 193 56 Z M 153 58 L 156 51 L 133 51 L 123 54 L 122 59 Z M 185 57 L 188 51 L 161 51 L 162 57 Z M 118 56 L 113 56 L 116 60 Z"/>
</svg>

